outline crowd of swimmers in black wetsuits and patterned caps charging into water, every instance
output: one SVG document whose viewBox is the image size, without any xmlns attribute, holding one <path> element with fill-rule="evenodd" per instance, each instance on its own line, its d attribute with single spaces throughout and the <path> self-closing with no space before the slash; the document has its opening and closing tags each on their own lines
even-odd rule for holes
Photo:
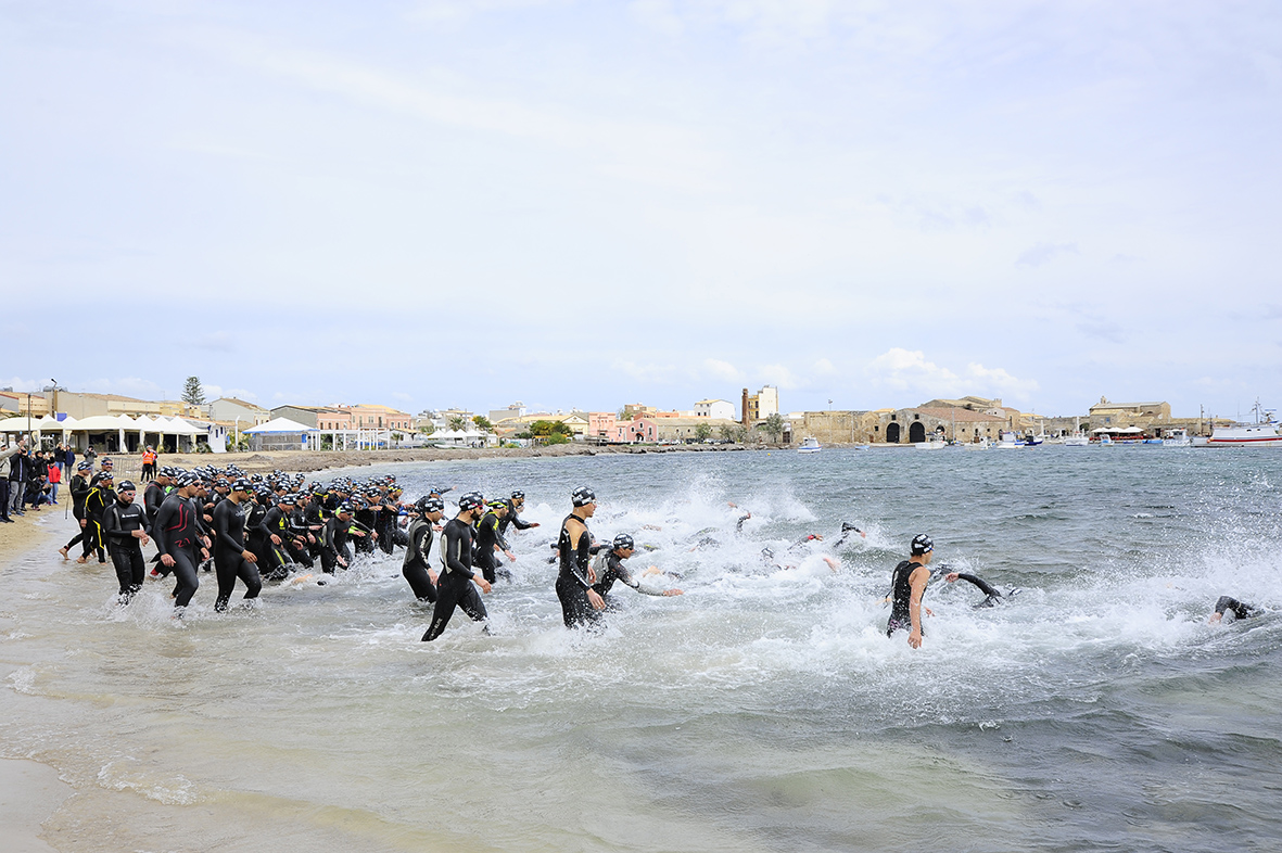
<svg viewBox="0 0 1282 853">
<path fill-rule="evenodd" d="M 150 465 L 154 464 L 153 457 Z M 414 598 L 432 607 L 423 640 L 440 637 L 456 610 L 485 622 L 488 631 L 488 613 L 481 596 L 490 593 L 496 583 L 512 579 L 505 562 L 515 561 L 517 556 L 508 542 L 509 529 L 538 526 L 520 517 L 526 500 L 520 491 L 497 498 L 467 492 L 458 498 L 454 517 L 446 519 L 442 496 L 451 488 L 433 488 L 408 502 L 394 475 L 364 482 L 342 476 L 329 483 L 305 483 L 303 474 L 279 470 L 249 475 L 235 465 L 221 469 L 210 465 L 190 471 L 162 466 L 147 471 L 149 480 L 138 503 L 137 484 L 117 483 L 113 467 L 106 457 L 99 462 L 97 471 L 90 460 L 77 465 L 69 492 L 79 532 L 59 552 L 69 560 L 72 549 L 79 546 L 78 564 L 95 557 L 105 564 L 110 558 L 122 605 L 142 589 L 149 575 L 155 579 L 172 576 L 176 617 L 182 616 L 200 588 L 201 571 L 214 573 L 218 588 L 214 610 L 222 612 L 237 583 L 245 588 L 244 598 L 253 601 L 264 581 L 310 576 L 319 569 L 322 578 L 317 583 L 323 584 L 324 574 L 350 567 L 362 555 L 374 551 L 394 555 L 403 548 L 405 580 Z M 627 565 L 637 551 L 631 534 L 596 540 L 590 530 L 596 512 L 596 494 L 591 488 L 574 489 L 570 505 L 550 560 L 558 566 L 554 589 L 567 628 L 600 625 L 603 615 L 614 606 L 612 590 L 617 583 L 650 596 L 682 594 L 681 589 L 650 581 L 651 575 L 659 575 L 660 580 L 677 575 L 654 566 L 638 573 Z M 729 506 L 737 508 L 733 503 Z M 741 533 L 751 519 L 751 512 L 740 512 L 736 533 Z M 709 528 L 694 534 L 690 549 L 719 544 L 718 532 Z M 835 546 L 840 547 L 853 535 L 867 537 L 867 533 L 844 523 Z M 818 542 L 823 542 L 823 537 L 810 534 L 778 555 L 767 547 L 762 551 L 763 564 L 792 569 Z M 153 543 L 155 555 L 149 569 L 142 549 Z M 432 560 L 433 546 L 437 546 L 436 561 Z M 1003 593 L 974 574 L 951 571 L 947 566 L 932 569 L 935 543 L 927 534 L 914 537 L 909 548 L 909 558 L 891 573 L 886 634 L 908 631 L 908 644 L 913 648 L 922 646 L 923 612 L 931 615 L 922 601 L 932 580 L 964 580 L 974 585 L 983 594 L 976 607 L 1001 605 L 1019 592 Z M 837 569 L 833 557 L 822 557 Z M 1250 619 L 1263 612 L 1223 596 L 1210 621 L 1219 622 L 1226 613 Z"/>
</svg>

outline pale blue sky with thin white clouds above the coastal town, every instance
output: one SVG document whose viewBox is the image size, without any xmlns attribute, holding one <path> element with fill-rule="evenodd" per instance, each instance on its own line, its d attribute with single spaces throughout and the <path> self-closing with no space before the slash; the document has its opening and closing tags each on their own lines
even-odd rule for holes
<svg viewBox="0 0 1282 853">
<path fill-rule="evenodd" d="M 1282 5 L 0 0 L 0 386 L 1282 407 Z"/>
</svg>

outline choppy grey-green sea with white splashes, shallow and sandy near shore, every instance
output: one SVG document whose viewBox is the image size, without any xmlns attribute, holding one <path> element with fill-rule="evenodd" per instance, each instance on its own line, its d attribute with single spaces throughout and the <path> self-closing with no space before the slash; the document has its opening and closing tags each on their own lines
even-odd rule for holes
<svg viewBox="0 0 1282 853">
<path fill-rule="evenodd" d="M 53 548 L 0 578 L 0 756 L 74 794 L 59 850 L 1242 850 L 1282 848 L 1282 452 L 1038 447 L 400 464 L 527 494 L 488 631 L 420 642 L 400 551 L 186 619 Z M 326 476 L 326 475 L 322 475 Z M 550 544 L 615 585 L 567 630 Z M 735 506 L 732 506 L 735 505 Z M 750 512 L 742 525 L 740 519 Z M 841 540 L 842 524 L 867 533 Z M 920 649 L 885 634 L 929 534 Z M 812 534 L 819 538 L 809 539 Z M 147 549 L 150 552 L 150 548 Z M 827 557 L 827 558 L 826 558 Z M 836 565 L 832 565 L 836 564 Z M 326 580 L 323 585 L 318 583 Z M 1229 594 L 1265 612 L 1208 624 Z"/>
</svg>

